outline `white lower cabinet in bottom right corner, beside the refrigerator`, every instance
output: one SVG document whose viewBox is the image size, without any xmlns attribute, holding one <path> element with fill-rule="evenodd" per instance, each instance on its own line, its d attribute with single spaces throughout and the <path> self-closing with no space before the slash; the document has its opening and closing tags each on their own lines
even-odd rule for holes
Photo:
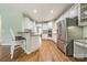
<svg viewBox="0 0 87 65">
<path fill-rule="evenodd" d="M 76 58 L 87 57 L 87 43 L 84 42 L 74 41 L 74 57 Z"/>
</svg>

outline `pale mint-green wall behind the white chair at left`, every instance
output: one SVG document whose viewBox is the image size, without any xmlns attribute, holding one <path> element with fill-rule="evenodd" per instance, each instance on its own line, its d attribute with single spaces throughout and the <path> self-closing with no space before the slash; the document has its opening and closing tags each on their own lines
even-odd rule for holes
<svg viewBox="0 0 87 65">
<path fill-rule="evenodd" d="M 1 40 L 2 42 L 12 41 L 12 35 L 10 29 L 13 30 L 14 35 L 18 35 L 18 32 L 22 31 L 22 21 L 23 15 L 20 11 L 9 10 L 9 9 L 0 9 L 1 14 Z"/>
</svg>

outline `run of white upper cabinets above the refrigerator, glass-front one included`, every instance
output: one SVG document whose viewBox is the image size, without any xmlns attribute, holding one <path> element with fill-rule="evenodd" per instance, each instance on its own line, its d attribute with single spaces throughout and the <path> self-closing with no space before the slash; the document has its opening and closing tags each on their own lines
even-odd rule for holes
<svg viewBox="0 0 87 65">
<path fill-rule="evenodd" d="M 77 22 L 76 25 L 84 26 L 87 25 L 87 3 L 75 3 L 68 9 L 65 13 L 63 13 L 58 21 L 66 20 L 66 19 L 74 19 Z M 72 23 L 73 21 L 70 21 Z"/>
</svg>

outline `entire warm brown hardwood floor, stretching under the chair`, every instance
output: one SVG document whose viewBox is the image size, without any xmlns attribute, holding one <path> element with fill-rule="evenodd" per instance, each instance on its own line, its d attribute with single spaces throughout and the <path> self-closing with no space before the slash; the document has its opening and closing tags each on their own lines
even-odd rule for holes
<svg viewBox="0 0 87 65">
<path fill-rule="evenodd" d="M 2 48 L 2 51 L 4 50 Z M 13 59 L 10 58 L 10 54 L 7 54 L 4 57 L 0 58 L 0 62 L 87 62 L 87 58 L 76 59 L 66 56 L 57 48 L 53 41 L 43 40 L 42 45 L 37 51 L 28 55 L 19 47 L 14 51 Z"/>
</svg>

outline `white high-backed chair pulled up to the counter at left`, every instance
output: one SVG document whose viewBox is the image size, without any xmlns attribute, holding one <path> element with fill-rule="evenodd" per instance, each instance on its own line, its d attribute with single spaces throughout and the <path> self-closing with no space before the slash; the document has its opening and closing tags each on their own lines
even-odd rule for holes
<svg viewBox="0 0 87 65">
<path fill-rule="evenodd" d="M 25 44 L 23 44 L 23 41 L 25 41 L 25 39 L 20 39 L 20 40 L 15 40 L 15 35 L 12 29 L 10 29 L 10 33 L 12 36 L 12 45 L 11 45 L 11 59 L 13 58 L 13 54 L 14 54 L 14 50 L 22 47 L 23 50 L 25 50 Z"/>
</svg>

